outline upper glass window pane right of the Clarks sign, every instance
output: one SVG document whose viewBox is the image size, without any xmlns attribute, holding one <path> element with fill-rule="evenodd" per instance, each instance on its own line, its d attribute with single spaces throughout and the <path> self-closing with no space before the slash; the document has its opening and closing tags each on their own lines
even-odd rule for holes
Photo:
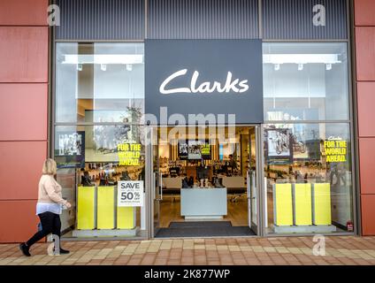
<svg viewBox="0 0 375 283">
<path fill-rule="evenodd" d="M 264 43 L 264 120 L 348 120 L 346 43 Z"/>
</svg>

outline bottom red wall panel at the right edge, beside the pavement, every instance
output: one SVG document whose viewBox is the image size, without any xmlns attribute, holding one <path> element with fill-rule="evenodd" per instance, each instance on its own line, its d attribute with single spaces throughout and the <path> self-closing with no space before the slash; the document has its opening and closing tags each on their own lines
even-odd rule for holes
<svg viewBox="0 0 375 283">
<path fill-rule="evenodd" d="M 375 195 L 361 195 L 362 203 L 362 234 L 375 235 Z"/>
</svg>

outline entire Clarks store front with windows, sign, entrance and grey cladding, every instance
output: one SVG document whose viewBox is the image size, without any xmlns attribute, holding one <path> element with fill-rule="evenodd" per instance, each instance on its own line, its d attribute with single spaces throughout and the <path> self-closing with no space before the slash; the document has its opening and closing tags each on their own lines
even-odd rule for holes
<svg viewBox="0 0 375 283">
<path fill-rule="evenodd" d="M 356 233 L 348 1 L 57 5 L 65 239 Z"/>
</svg>

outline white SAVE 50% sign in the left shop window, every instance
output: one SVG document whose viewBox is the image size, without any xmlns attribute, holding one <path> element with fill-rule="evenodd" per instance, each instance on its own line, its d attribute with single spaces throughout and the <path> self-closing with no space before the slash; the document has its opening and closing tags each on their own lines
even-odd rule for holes
<svg viewBox="0 0 375 283">
<path fill-rule="evenodd" d="M 118 183 L 118 206 L 143 206 L 143 188 L 142 180 L 120 180 Z"/>
</svg>

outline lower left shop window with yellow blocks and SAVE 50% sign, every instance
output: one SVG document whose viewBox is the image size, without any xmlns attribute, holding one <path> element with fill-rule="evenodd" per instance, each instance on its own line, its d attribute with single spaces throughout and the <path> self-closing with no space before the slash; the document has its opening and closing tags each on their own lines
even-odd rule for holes
<svg viewBox="0 0 375 283">
<path fill-rule="evenodd" d="M 57 181 L 73 204 L 61 216 L 64 237 L 146 235 L 142 136 L 137 125 L 56 127 Z M 129 191 L 119 191 L 124 181 L 141 188 L 127 195 Z"/>
</svg>

